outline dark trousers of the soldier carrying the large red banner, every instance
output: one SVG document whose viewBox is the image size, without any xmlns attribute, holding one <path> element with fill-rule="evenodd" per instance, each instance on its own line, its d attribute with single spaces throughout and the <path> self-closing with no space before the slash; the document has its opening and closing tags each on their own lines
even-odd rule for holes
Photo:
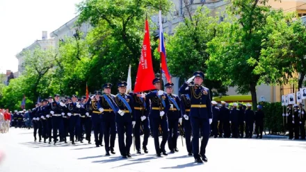
<svg viewBox="0 0 306 172">
<path fill-rule="evenodd" d="M 149 119 L 145 119 L 141 121 L 141 119 L 136 119 L 136 123 L 134 126 L 134 135 L 135 135 L 135 147 L 136 150 L 140 150 L 140 130 L 143 130 L 143 146 L 147 146 L 147 140 L 150 136 L 150 128 L 149 128 Z"/>
</svg>

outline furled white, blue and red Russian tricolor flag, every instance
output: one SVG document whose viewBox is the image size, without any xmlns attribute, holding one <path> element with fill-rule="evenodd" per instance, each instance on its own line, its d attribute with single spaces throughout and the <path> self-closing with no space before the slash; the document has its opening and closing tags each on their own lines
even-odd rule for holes
<svg viewBox="0 0 306 172">
<path fill-rule="evenodd" d="M 165 42 L 163 37 L 163 24 L 161 20 L 161 10 L 159 10 L 159 52 L 161 53 L 161 71 L 163 71 L 163 74 L 165 74 L 168 83 L 171 83 L 171 76 L 168 70 L 167 66 L 167 60 L 166 60 L 166 48 L 165 48 Z"/>
</svg>

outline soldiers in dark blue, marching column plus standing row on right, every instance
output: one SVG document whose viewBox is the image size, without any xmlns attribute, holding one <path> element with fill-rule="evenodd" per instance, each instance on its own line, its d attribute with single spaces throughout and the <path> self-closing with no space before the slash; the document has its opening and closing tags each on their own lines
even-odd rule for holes
<svg viewBox="0 0 306 172">
<path fill-rule="evenodd" d="M 188 155 L 201 163 L 207 162 L 205 154 L 209 137 L 243 137 L 245 126 L 245 137 L 251 138 L 256 123 L 257 138 L 262 138 L 264 112 L 261 105 L 257 112 L 251 110 L 250 104 L 243 110 L 241 105 L 237 107 L 234 103 L 230 110 L 227 103 L 221 102 L 219 108 L 216 101 L 211 101 L 209 89 L 202 86 L 203 80 L 202 71 L 195 71 L 193 77 L 180 87 L 181 96 L 172 94 L 173 83 L 166 83 L 166 92 L 163 92 L 160 78 L 152 80 L 155 89 L 147 93 L 126 94 L 127 83 L 120 81 L 116 95 L 111 94 L 113 85 L 106 83 L 102 86 L 103 94 L 95 91 L 88 98 L 49 96 L 31 110 L 34 141 L 46 144 L 53 141 L 56 145 L 58 142 L 68 143 L 69 137 L 71 144 L 83 143 L 84 139 L 91 144 L 93 130 L 95 146 L 104 146 L 109 156 L 115 154 L 118 134 L 120 155 L 128 158 L 133 142 L 136 153 L 149 153 L 147 144 L 152 135 L 156 156 L 161 157 L 168 155 L 167 142 L 170 153 L 179 151 L 177 139 L 180 133 L 185 138 Z M 239 130 L 241 126 L 243 128 Z M 143 135 L 142 142 L 140 135 Z"/>
</svg>

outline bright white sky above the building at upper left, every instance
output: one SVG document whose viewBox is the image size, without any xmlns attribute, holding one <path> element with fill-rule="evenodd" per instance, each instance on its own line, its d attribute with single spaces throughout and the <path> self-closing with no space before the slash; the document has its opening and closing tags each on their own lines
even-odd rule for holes
<svg viewBox="0 0 306 172">
<path fill-rule="evenodd" d="M 0 0 L 0 73 L 18 70 L 15 57 L 77 15 L 81 0 Z"/>
</svg>

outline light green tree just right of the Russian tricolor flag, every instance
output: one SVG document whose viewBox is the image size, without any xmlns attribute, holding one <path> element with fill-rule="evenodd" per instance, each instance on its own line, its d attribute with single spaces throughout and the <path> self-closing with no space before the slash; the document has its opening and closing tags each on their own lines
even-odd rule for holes
<svg viewBox="0 0 306 172">
<path fill-rule="evenodd" d="M 180 78 L 189 78 L 194 71 L 200 70 L 206 73 L 209 59 L 207 43 L 214 37 L 222 34 L 218 29 L 219 17 L 211 16 L 211 11 L 206 6 L 199 7 L 194 15 L 186 3 L 187 15 L 184 22 L 175 30 L 175 35 L 168 37 L 167 56 L 170 73 Z M 220 80 L 205 79 L 209 89 L 215 89 L 216 96 L 225 94 L 227 87 Z M 211 95 L 213 96 L 213 95 Z"/>
</svg>

